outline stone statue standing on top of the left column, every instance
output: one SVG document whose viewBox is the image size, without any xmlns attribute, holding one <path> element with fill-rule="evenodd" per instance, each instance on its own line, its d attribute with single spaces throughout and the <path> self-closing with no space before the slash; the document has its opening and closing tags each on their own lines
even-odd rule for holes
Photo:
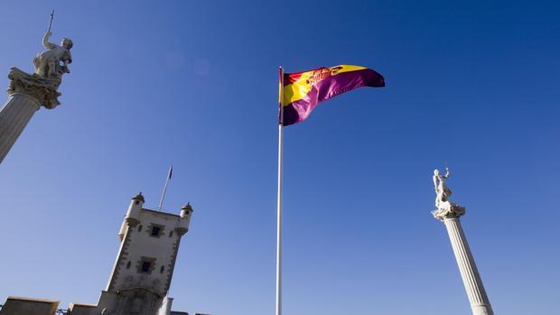
<svg viewBox="0 0 560 315">
<path fill-rule="evenodd" d="M 70 73 L 68 64 L 72 62 L 70 55 L 72 41 L 63 38 L 59 46 L 49 42 L 51 35 L 51 32 L 45 32 L 42 37 L 42 46 L 47 51 L 42 51 L 37 57 L 33 58 L 33 65 L 35 66 L 35 73 L 42 79 L 61 79 L 62 74 Z"/>
</svg>

